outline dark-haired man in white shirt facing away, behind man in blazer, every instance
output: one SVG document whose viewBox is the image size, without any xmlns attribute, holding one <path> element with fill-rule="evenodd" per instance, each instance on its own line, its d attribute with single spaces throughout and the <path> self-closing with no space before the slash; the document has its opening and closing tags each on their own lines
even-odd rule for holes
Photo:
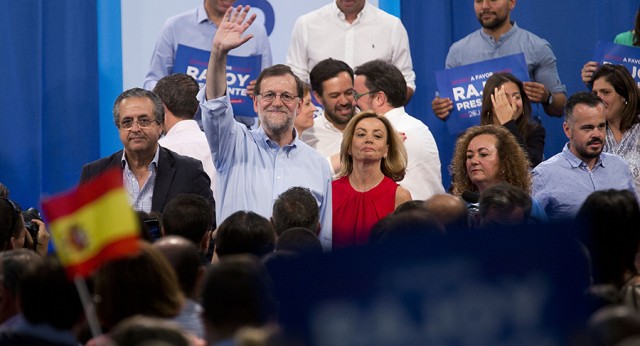
<svg viewBox="0 0 640 346">
<path fill-rule="evenodd" d="M 204 132 L 193 120 L 198 111 L 200 87 L 191 76 L 176 73 L 158 81 L 153 92 L 164 104 L 164 137 L 158 143 L 180 155 L 198 159 L 211 179 L 211 191 L 215 195 L 216 168 Z"/>
</svg>

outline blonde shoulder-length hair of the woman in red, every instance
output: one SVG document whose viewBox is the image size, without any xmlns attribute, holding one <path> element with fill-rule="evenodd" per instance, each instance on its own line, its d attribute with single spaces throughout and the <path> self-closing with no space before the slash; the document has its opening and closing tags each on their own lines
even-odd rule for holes
<svg viewBox="0 0 640 346">
<path fill-rule="evenodd" d="M 389 120 L 372 111 L 356 114 L 345 127 L 342 134 L 342 144 L 340 145 L 340 163 L 342 167 L 338 172 L 338 177 L 348 176 L 353 171 L 353 158 L 349 154 L 351 151 L 351 143 L 353 142 L 356 125 L 358 125 L 361 120 L 367 118 L 380 120 L 387 130 L 387 145 L 389 146 L 389 150 L 387 151 L 387 157 L 382 158 L 380 161 L 382 174 L 391 178 L 393 181 L 402 180 L 407 170 L 407 150 L 404 147 L 404 143 Z"/>
</svg>

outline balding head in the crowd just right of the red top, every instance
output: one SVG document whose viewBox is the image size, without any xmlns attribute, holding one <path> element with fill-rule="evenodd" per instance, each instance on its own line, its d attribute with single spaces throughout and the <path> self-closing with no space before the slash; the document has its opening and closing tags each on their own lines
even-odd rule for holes
<svg viewBox="0 0 640 346">
<path fill-rule="evenodd" d="M 464 201 L 450 194 L 437 194 L 424 201 L 424 208 L 429 211 L 446 229 L 469 229 L 469 210 Z"/>
</svg>

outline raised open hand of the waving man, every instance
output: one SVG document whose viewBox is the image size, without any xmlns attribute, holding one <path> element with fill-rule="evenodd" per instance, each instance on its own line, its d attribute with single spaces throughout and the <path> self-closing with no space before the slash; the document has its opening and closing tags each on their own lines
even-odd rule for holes
<svg viewBox="0 0 640 346">
<path fill-rule="evenodd" d="M 223 54 L 228 53 L 253 38 L 251 34 L 242 36 L 256 19 L 255 14 L 246 19 L 249 9 L 248 5 L 244 6 L 244 8 L 238 6 L 235 9 L 229 7 L 216 31 L 216 35 L 213 37 L 213 48 L 215 50 Z"/>
</svg>

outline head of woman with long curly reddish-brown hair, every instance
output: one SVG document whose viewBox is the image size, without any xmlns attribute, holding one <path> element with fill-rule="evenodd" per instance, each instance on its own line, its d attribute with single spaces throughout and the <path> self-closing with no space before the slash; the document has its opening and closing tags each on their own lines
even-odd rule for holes
<svg viewBox="0 0 640 346">
<path fill-rule="evenodd" d="M 502 126 L 480 125 L 458 138 L 451 162 L 453 194 L 482 193 L 505 182 L 531 193 L 529 161 L 516 138 Z"/>
</svg>

